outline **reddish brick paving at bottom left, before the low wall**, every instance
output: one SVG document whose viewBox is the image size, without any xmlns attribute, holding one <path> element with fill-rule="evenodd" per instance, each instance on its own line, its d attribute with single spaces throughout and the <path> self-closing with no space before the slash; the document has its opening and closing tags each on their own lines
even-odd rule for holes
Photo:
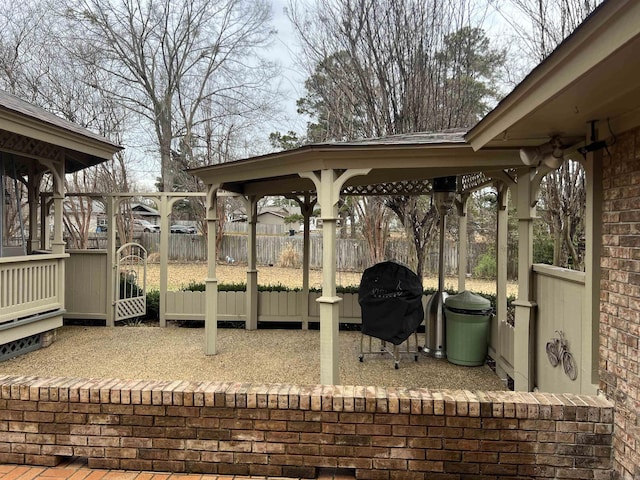
<svg viewBox="0 0 640 480">
<path fill-rule="evenodd" d="M 185 473 L 100 470 L 87 467 L 85 459 L 70 459 L 57 467 L 0 464 L 0 480 L 296 480 L 290 477 L 245 475 L 193 475 Z M 344 470 L 320 469 L 318 480 L 354 480 Z"/>
</svg>

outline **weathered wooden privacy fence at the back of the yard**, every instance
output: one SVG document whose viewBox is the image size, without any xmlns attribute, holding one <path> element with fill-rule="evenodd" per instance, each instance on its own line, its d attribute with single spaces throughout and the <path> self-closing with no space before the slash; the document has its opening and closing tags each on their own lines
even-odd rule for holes
<svg viewBox="0 0 640 480">
<path fill-rule="evenodd" d="M 322 236 L 312 235 L 310 245 L 311 268 L 322 267 Z M 144 233 L 141 237 L 142 246 L 148 252 L 157 252 L 160 241 L 159 233 Z M 437 273 L 438 251 L 437 245 L 432 248 L 426 258 L 425 273 Z M 256 253 L 259 265 L 280 265 L 283 252 L 293 250 L 297 258 L 297 265 L 302 265 L 302 236 L 270 236 L 257 237 Z M 387 259 L 410 263 L 410 245 L 407 240 L 392 239 L 387 242 Z M 339 238 L 336 241 L 337 268 L 342 271 L 362 271 L 372 264 L 369 259 L 367 244 L 362 239 Z M 219 259 L 230 263 L 247 262 L 247 236 L 224 235 Z M 291 255 L 289 255 L 291 258 Z M 169 260 L 180 262 L 206 261 L 207 242 L 201 235 L 170 235 Z M 458 246 L 455 242 L 445 242 L 445 265 L 448 274 L 455 274 L 458 269 Z"/>
</svg>

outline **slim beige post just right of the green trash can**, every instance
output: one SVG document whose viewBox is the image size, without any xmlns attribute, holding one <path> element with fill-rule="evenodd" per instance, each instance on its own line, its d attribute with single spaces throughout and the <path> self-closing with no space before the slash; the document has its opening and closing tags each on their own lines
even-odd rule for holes
<svg viewBox="0 0 640 480">
<path fill-rule="evenodd" d="M 502 345 L 506 335 L 507 325 L 507 254 L 508 254 L 508 226 L 509 226 L 509 188 L 504 182 L 496 185 L 498 191 L 497 201 L 497 241 L 496 241 L 496 316 L 493 319 L 491 329 L 491 343 L 495 350 L 496 374 L 507 378 L 503 368 L 506 360 L 503 356 Z M 511 365 L 513 366 L 513 365 Z"/>
</svg>

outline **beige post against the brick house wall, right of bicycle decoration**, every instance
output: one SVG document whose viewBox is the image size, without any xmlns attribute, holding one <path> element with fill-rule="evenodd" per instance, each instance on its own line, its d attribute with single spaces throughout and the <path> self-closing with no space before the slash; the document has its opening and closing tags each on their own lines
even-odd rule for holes
<svg viewBox="0 0 640 480">
<path fill-rule="evenodd" d="M 600 251 L 602 249 L 602 150 L 587 154 L 584 163 L 587 198 L 585 208 L 585 304 L 582 328 L 580 389 L 595 395 L 599 382 Z"/>
</svg>

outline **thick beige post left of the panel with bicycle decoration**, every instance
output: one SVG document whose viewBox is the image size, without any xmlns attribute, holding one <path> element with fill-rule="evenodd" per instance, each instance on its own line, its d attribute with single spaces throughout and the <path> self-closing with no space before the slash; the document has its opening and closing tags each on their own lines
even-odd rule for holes
<svg viewBox="0 0 640 480">
<path fill-rule="evenodd" d="M 535 218 L 535 168 L 518 170 L 518 299 L 515 305 L 514 381 L 517 391 L 535 387 L 535 308 L 533 301 L 533 219 Z"/>
</svg>

